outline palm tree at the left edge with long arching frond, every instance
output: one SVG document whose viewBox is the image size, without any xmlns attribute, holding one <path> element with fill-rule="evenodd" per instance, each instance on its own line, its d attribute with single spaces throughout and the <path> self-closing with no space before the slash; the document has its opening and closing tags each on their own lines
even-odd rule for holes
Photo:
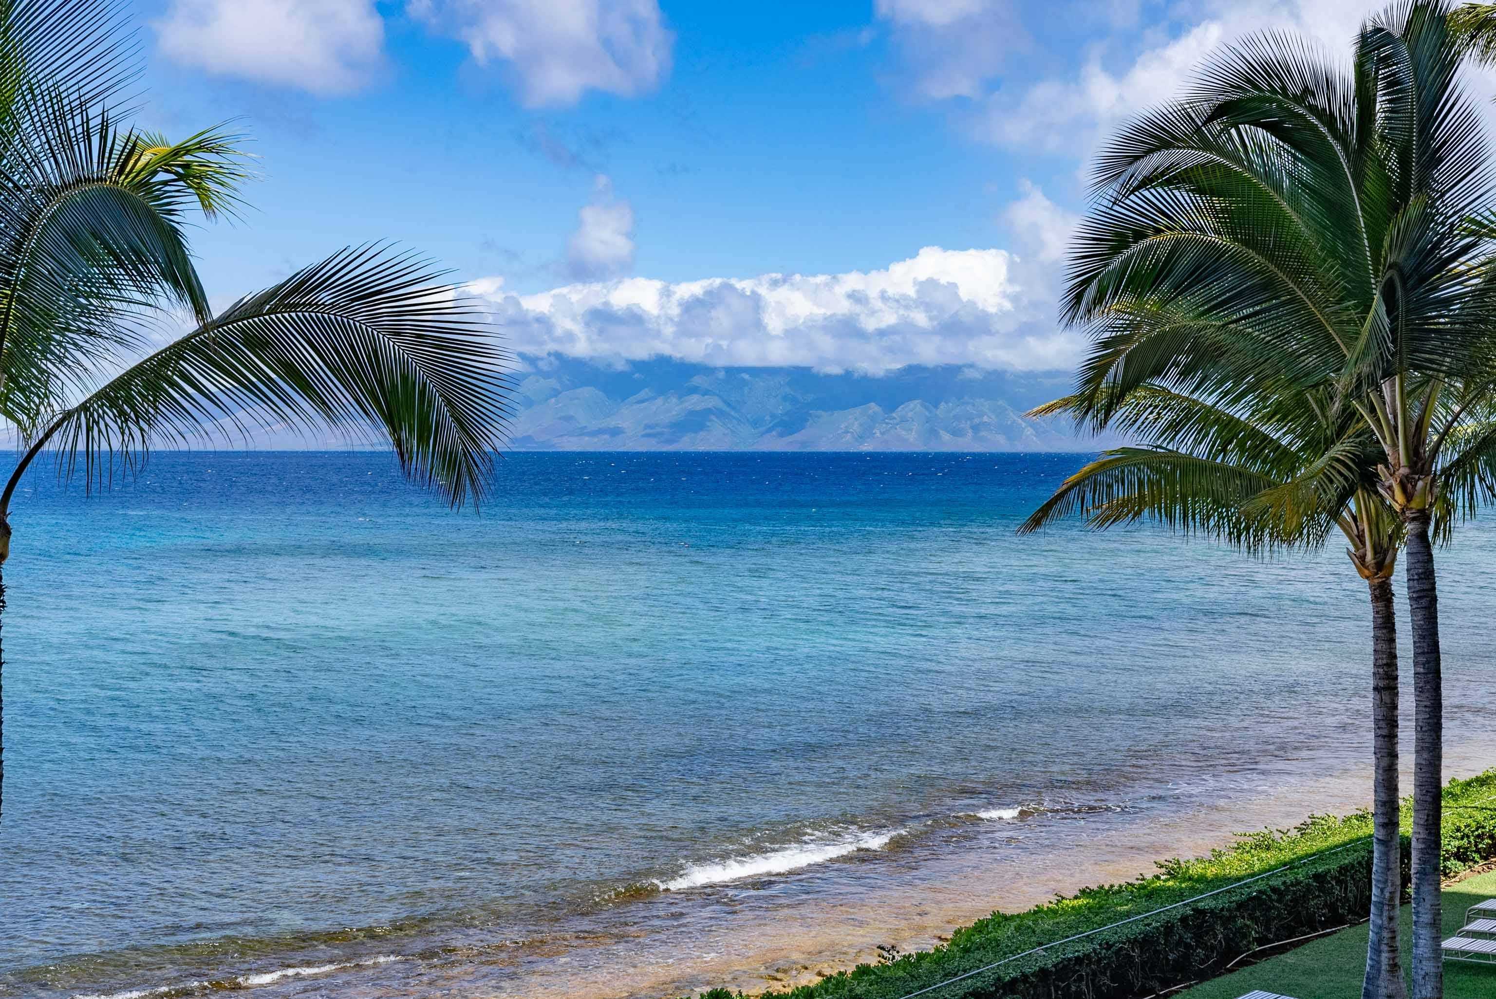
<svg viewBox="0 0 1496 999">
<path fill-rule="evenodd" d="M 244 159 L 221 130 L 121 127 L 130 73 L 112 0 L 0 0 L 0 420 L 24 449 L 0 494 L 0 565 L 43 452 L 97 486 L 203 435 L 373 431 L 407 476 L 476 502 L 507 416 L 506 356 L 477 307 L 380 244 L 214 316 L 186 226 L 233 208 Z M 157 345 L 163 310 L 194 329 Z"/>
</svg>

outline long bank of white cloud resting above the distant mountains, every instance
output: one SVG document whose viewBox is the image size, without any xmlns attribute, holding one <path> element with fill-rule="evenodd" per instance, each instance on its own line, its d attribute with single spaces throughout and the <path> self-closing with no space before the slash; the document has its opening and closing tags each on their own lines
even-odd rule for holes
<svg viewBox="0 0 1496 999">
<path fill-rule="evenodd" d="M 1016 280 L 1025 271 L 1005 250 L 926 247 L 881 271 L 621 278 L 522 296 L 494 289 L 488 301 L 509 345 L 530 356 L 869 374 L 1068 368 L 1083 338 L 1055 328 L 1049 292 Z"/>
</svg>

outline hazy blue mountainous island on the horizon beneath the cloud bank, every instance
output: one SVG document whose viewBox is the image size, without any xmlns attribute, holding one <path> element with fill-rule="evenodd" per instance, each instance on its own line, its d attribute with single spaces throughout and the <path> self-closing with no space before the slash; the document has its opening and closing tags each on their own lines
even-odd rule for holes
<svg viewBox="0 0 1496 999">
<path fill-rule="evenodd" d="M 518 377 L 516 450 L 1092 452 L 1065 420 L 1029 419 L 1068 372 L 1017 378 L 956 366 L 883 377 L 805 368 L 570 359 Z M 1053 384 L 1050 384 L 1053 383 Z M 1046 395 L 1047 393 L 1047 395 Z"/>
</svg>

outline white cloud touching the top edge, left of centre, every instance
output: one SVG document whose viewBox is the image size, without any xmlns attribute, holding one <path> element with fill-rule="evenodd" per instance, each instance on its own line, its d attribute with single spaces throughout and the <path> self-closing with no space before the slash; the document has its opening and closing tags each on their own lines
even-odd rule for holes
<svg viewBox="0 0 1496 999">
<path fill-rule="evenodd" d="M 588 90 L 625 97 L 670 69 L 675 36 L 655 0 L 410 0 L 408 10 L 507 63 L 525 105 L 571 105 Z"/>
</svg>

